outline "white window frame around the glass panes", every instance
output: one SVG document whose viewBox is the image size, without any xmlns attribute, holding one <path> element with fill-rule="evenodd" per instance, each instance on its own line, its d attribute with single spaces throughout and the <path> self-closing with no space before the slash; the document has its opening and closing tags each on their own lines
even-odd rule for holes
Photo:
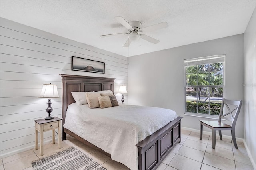
<svg viewBox="0 0 256 170">
<path fill-rule="evenodd" d="M 217 58 L 218 57 L 222 57 L 224 61 L 219 61 Z M 216 58 L 216 59 L 212 59 L 212 58 Z M 202 63 L 200 63 L 200 60 L 202 61 Z M 185 62 L 188 61 L 191 63 L 193 63 L 193 61 L 195 61 L 194 63 L 196 64 L 186 64 Z M 207 62 L 209 61 L 209 62 Z M 189 115 L 189 116 L 195 116 L 195 117 L 204 117 L 204 118 L 211 118 L 211 119 L 218 119 L 219 115 L 210 115 L 210 114 L 203 114 L 203 113 L 192 113 L 192 112 L 186 112 L 186 88 L 187 87 L 216 87 L 216 88 L 223 88 L 223 96 L 222 98 L 225 97 L 225 61 L 226 61 L 226 55 L 214 55 L 214 56 L 208 56 L 208 57 L 199 57 L 199 58 L 193 58 L 193 59 L 187 59 L 184 60 L 184 115 Z M 188 66 L 193 66 L 193 65 L 203 65 L 203 64 L 212 64 L 212 63 L 222 63 L 222 72 L 223 72 L 223 85 L 208 85 L 208 86 L 202 86 L 202 85 L 196 85 L 196 86 L 187 86 L 187 80 L 186 80 L 186 67 Z"/>
</svg>

